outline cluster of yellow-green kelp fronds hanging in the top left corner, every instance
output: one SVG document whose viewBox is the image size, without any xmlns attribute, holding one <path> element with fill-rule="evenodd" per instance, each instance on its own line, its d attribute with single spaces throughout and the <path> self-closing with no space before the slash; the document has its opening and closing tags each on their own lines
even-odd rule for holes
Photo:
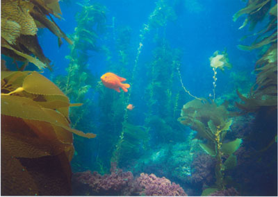
<svg viewBox="0 0 278 197">
<path fill-rule="evenodd" d="M 1 1 L 1 53 L 25 62 L 22 67 L 17 67 L 18 70 L 24 70 L 28 62 L 38 69 L 51 69 L 50 60 L 38 43 L 37 33 L 38 28 L 46 27 L 58 37 L 59 46 L 63 43 L 62 37 L 72 44 L 51 17 L 60 19 L 61 14 L 58 1 Z"/>
</svg>

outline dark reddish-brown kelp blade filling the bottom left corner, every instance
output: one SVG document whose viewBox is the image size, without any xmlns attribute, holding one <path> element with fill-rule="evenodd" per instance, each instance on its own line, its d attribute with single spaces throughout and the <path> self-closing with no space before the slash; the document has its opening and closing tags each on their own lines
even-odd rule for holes
<svg viewBox="0 0 278 197">
<path fill-rule="evenodd" d="M 3 145 L 1 147 L 1 168 L 4 169 L 1 171 L 1 195 L 35 196 L 39 194 L 33 177 L 17 158 L 3 148 Z"/>
</svg>

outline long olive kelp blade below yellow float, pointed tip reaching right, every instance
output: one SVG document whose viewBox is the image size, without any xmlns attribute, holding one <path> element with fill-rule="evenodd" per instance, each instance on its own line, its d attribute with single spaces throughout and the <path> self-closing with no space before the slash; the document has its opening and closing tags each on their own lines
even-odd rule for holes
<svg viewBox="0 0 278 197">
<path fill-rule="evenodd" d="M 49 114 L 49 109 L 41 108 L 38 103 L 35 101 L 19 97 L 19 96 L 1 96 L 1 114 L 19 117 L 22 119 L 30 119 L 30 120 L 38 120 L 38 121 L 46 121 L 48 123 L 54 124 L 55 126 L 60 126 L 65 128 L 70 132 L 73 132 L 76 135 L 80 135 L 81 137 L 93 138 L 96 135 L 93 133 L 83 133 L 80 130 L 75 130 L 70 128 L 68 125 L 63 125 L 65 123 L 65 117 L 62 114 L 56 112 L 51 113 L 51 115 L 55 114 L 55 116 L 51 117 Z"/>
</svg>

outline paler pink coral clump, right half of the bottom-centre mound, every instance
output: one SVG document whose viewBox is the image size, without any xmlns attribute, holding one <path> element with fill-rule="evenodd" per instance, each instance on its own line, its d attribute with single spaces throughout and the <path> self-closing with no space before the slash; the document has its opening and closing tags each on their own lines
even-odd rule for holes
<svg viewBox="0 0 278 197">
<path fill-rule="evenodd" d="M 174 182 L 171 184 L 165 177 L 157 178 L 153 173 L 141 173 L 136 182 L 142 187 L 142 191 L 139 192 L 141 196 L 187 196 L 179 185 Z"/>
</svg>

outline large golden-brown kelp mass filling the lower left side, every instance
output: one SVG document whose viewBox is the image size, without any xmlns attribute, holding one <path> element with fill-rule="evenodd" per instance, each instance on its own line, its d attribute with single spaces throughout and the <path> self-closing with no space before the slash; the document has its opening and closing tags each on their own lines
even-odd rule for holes
<svg viewBox="0 0 278 197">
<path fill-rule="evenodd" d="M 70 128 L 78 105 L 36 71 L 1 71 L 1 194 L 71 193 L 72 133 L 95 137 Z"/>
</svg>

